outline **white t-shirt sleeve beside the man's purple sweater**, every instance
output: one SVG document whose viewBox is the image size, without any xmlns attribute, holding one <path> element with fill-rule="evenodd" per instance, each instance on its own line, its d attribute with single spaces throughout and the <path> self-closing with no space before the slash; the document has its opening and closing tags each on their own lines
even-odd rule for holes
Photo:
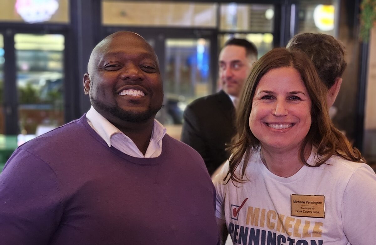
<svg viewBox="0 0 376 245">
<path fill-rule="evenodd" d="M 223 181 L 223 178 L 227 175 L 227 171 L 229 170 L 229 161 L 227 161 L 223 167 L 220 173 L 218 173 L 217 176 L 213 178 L 213 183 L 215 186 L 215 192 L 216 192 L 216 206 L 215 206 L 215 216 L 220 219 L 225 219 L 224 216 L 224 199 L 226 197 L 226 187 L 225 185 L 226 181 Z"/>
</svg>

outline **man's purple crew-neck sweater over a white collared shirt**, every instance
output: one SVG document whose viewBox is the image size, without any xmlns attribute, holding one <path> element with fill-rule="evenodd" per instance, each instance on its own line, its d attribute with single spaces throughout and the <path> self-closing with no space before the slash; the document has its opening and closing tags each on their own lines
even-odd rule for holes
<svg viewBox="0 0 376 245">
<path fill-rule="evenodd" d="M 200 155 L 165 135 L 156 158 L 105 141 L 85 115 L 21 145 L 0 175 L 1 244 L 217 244 Z"/>
</svg>

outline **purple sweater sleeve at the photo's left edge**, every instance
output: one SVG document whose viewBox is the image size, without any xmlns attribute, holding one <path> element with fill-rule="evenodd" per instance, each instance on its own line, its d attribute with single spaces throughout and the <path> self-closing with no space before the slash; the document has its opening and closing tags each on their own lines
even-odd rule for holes
<svg viewBox="0 0 376 245">
<path fill-rule="evenodd" d="M 0 174 L 2 244 L 47 244 L 59 225 L 61 196 L 50 166 L 17 149 Z"/>
</svg>

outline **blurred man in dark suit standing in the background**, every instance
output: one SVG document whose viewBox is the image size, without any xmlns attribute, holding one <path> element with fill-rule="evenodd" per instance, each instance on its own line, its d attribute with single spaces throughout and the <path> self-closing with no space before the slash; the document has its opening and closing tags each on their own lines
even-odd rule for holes
<svg viewBox="0 0 376 245">
<path fill-rule="evenodd" d="M 222 90 L 193 101 L 184 111 L 181 140 L 200 153 L 209 174 L 229 158 L 226 144 L 235 135 L 235 104 L 253 63 L 255 44 L 233 38 L 219 55 L 219 79 Z"/>
</svg>

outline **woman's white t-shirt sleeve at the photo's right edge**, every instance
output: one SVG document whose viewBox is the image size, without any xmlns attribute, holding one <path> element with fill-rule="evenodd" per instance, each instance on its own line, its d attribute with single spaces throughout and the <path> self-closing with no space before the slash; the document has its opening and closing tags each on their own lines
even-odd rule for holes
<svg viewBox="0 0 376 245">
<path fill-rule="evenodd" d="M 344 233 L 352 245 L 376 241 L 376 175 L 364 164 L 357 168 L 343 193 L 341 215 Z"/>
</svg>

